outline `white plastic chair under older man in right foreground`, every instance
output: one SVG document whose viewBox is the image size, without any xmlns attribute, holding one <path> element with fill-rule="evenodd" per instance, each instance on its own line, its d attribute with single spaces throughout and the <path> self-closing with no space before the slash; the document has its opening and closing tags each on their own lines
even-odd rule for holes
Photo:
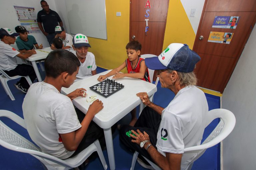
<svg viewBox="0 0 256 170">
<path fill-rule="evenodd" d="M 211 134 L 204 140 L 201 145 L 192 146 L 184 149 L 184 153 L 190 153 L 191 155 L 194 155 L 192 161 L 189 164 L 188 170 L 192 168 L 193 162 L 197 160 L 207 148 L 212 147 L 224 140 L 234 129 L 236 124 L 236 118 L 232 112 L 226 109 L 213 109 L 209 111 L 208 120 L 206 122 L 205 128 L 216 118 L 221 118 L 219 124 L 216 126 L 216 128 L 214 128 Z M 132 158 L 132 166 L 130 170 L 134 169 L 138 154 L 138 152 L 134 152 Z M 147 158 L 145 159 L 150 163 L 153 168 L 155 168 L 156 170 L 161 170 L 159 166 L 157 166 Z"/>
</svg>

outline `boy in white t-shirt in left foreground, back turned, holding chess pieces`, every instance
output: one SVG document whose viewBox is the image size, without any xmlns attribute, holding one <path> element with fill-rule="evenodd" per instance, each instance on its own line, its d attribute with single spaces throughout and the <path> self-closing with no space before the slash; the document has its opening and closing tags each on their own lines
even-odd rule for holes
<svg viewBox="0 0 256 170">
<path fill-rule="evenodd" d="M 62 87 L 70 87 L 76 79 L 80 66 L 77 57 L 70 51 L 56 49 L 44 63 L 44 81 L 31 85 L 22 105 L 31 139 L 43 152 L 60 159 L 78 154 L 96 139 L 104 147 L 103 129 L 91 122 L 103 103 L 94 101 L 84 115 L 72 104 L 76 97 L 85 97 L 84 88 L 67 96 L 60 93 Z"/>
</svg>

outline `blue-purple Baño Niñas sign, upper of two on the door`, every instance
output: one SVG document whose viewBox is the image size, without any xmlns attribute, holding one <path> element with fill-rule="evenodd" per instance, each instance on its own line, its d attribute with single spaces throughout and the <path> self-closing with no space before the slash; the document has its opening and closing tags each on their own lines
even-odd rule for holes
<svg viewBox="0 0 256 170">
<path fill-rule="evenodd" d="M 239 16 L 215 16 L 212 28 L 236 29 Z"/>
</svg>

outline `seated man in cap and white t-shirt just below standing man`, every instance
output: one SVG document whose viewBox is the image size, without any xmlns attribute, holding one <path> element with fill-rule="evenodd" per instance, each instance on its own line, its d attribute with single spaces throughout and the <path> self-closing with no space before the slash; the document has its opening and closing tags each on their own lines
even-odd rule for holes
<svg viewBox="0 0 256 170">
<path fill-rule="evenodd" d="M 56 34 L 55 38 L 60 38 L 64 44 L 62 49 L 68 49 L 72 47 L 73 37 L 70 34 L 67 34 L 63 27 L 56 26 L 55 34 Z M 53 49 L 52 46 L 51 46 L 51 49 Z"/>
</svg>

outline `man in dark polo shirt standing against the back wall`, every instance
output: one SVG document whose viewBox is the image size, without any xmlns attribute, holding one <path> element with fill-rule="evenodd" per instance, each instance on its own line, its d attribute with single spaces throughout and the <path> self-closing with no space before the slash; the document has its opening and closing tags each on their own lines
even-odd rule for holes
<svg viewBox="0 0 256 170">
<path fill-rule="evenodd" d="M 43 10 L 39 11 L 37 13 L 37 24 L 42 33 L 46 36 L 47 41 L 49 44 L 52 44 L 52 40 L 55 37 L 55 27 L 60 25 L 63 26 L 63 23 L 60 19 L 60 16 L 57 14 L 57 12 L 49 9 L 49 5 L 46 1 L 42 0 L 41 7 Z M 58 24 L 59 22 L 59 24 Z M 43 23 L 43 26 L 42 26 Z"/>
</svg>

